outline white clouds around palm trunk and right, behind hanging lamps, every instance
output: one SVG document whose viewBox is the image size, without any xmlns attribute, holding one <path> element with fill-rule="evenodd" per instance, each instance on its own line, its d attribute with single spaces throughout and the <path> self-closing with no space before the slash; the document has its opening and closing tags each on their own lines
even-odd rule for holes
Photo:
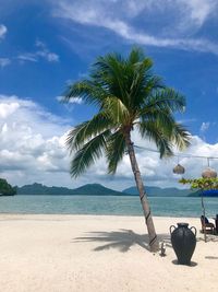
<svg viewBox="0 0 218 292">
<path fill-rule="evenodd" d="M 147 140 L 142 140 L 137 133 L 134 133 L 133 141 L 135 145 L 146 147 L 150 149 L 156 149 L 153 143 Z M 207 167 L 207 159 L 206 156 L 218 157 L 218 143 L 209 144 L 203 141 L 199 137 L 194 136 L 191 140 L 192 145 L 182 153 L 179 153 L 181 157 L 179 159 L 179 163 L 185 167 L 185 174 L 183 175 L 186 178 L 201 177 L 204 168 Z M 178 157 L 171 159 L 159 159 L 159 154 L 155 152 L 150 152 L 143 149 L 135 148 L 136 159 L 140 165 L 140 170 L 142 172 L 142 176 L 144 178 L 145 184 L 156 185 L 160 187 L 166 186 L 175 186 L 181 187 L 178 180 L 181 178 L 180 175 L 174 175 L 172 168 L 178 163 Z M 177 150 L 174 153 L 178 153 Z M 185 157 L 185 155 L 187 155 Z M 205 156 L 202 159 L 193 157 L 195 156 Z M 218 160 L 210 160 L 211 167 L 218 171 Z M 98 165 L 99 168 L 100 165 Z M 133 177 L 129 156 L 124 157 L 124 161 L 118 168 L 117 172 L 118 177 L 125 177 L 131 179 Z M 130 185 L 130 184 L 129 184 Z M 132 179 L 132 185 L 134 182 Z"/>
</svg>

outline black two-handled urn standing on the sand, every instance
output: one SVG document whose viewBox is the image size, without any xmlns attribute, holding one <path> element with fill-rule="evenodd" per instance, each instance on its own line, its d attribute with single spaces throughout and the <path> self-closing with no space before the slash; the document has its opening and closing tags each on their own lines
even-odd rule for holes
<svg viewBox="0 0 218 292">
<path fill-rule="evenodd" d="M 178 227 L 170 226 L 172 247 L 180 265 L 190 265 L 196 246 L 196 229 L 194 226 L 189 229 L 187 226 L 189 223 L 178 223 Z M 174 230 L 172 231 L 172 229 Z"/>
</svg>

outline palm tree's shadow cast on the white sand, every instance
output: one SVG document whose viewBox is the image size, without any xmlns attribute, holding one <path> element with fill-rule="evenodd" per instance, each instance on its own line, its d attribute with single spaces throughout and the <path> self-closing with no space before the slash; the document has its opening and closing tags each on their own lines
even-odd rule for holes
<svg viewBox="0 0 218 292">
<path fill-rule="evenodd" d="M 167 234 L 158 234 L 160 241 L 165 241 L 167 246 L 169 245 L 170 238 Z M 137 234 L 132 230 L 119 230 L 111 232 L 92 232 L 87 236 L 76 237 L 73 240 L 74 243 L 80 242 L 96 242 L 104 243 L 94 248 L 95 252 L 100 252 L 109 248 L 117 248 L 121 253 L 126 253 L 132 246 L 138 245 L 144 249 L 149 250 L 149 240 L 147 234 Z"/>
</svg>

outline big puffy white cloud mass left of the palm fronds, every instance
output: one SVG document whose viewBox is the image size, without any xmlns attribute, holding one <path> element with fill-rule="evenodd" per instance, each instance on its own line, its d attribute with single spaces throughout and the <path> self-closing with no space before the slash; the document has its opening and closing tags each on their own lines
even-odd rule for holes
<svg viewBox="0 0 218 292">
<path fill-rule="evenodd" d="M 63 142 L 69 127 L 29 100 L 0 95 L 0 176 L 13 185 L 56 184 L 59 175 L 70 183 Z"/>
</svg>

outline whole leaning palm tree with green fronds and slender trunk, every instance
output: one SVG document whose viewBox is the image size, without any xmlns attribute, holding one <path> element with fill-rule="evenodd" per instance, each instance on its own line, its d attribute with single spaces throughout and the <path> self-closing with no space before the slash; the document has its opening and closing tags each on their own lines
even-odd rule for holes
<svg viewBox="0 0 218 292">
<path fill-rule="evenodd" d="M 77 177 L 102 154 L 108 173 L 114 174 L 128 152 L 140 192 L 152 252 L 159 249 L 149 203 L 135 156 L 131 133 L 138 130 L 142 138 L 155 141 L 160 157 L 172 155 L 172 147 L 180 150 L 189 144 L 189 133 L 173 118 L 183 112 L 184 97 L 167 87 L 150 69 L 153 61 L 140 48 L 133 48 L 126 58 L 108 54 L 97 58 L 89 78 L 70 85 L 64 100 L 81 97 L 95 105 L 97 114 L 70 130 L 66 145 L 75 154 L 71 175 Z"/>
</svg>

